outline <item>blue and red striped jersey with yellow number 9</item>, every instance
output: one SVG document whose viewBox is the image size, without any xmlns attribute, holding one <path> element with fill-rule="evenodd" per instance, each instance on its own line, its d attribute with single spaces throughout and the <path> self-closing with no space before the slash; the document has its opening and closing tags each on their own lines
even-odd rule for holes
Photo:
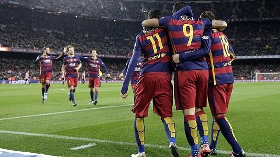
<svg viewBox="0 0 280 157">
<path fill-rule="evenodd" d="M 204 29 L 212 26 L 212 20 L 175 15 L 160 18 L 159 25 L 167 28 L 173 51 L 180 54 L 201 48 Z M 202 57 L 178 64 L 177 70 L 208 70 L 208 67 Z"/>
</svg>

